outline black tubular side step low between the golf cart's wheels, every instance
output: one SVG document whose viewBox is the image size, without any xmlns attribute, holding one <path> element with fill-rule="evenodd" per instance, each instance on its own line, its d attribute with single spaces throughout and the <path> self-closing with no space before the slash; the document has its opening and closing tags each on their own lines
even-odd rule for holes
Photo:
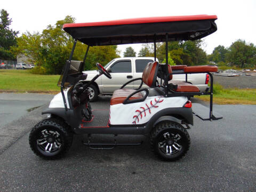
<svg viewBox="0 0 256 192">
<path fill-rule="evenodd" d="M 143 141 L 139 143 L 117 143 L 116 142 L 116 135 L 113 143 L 91 143 L 91 135 L 89 134 L 89 140 L 82 141 L 84 145 L 87 145 L 90 149 L 98 149 L 98 150 L 109 150 L 109 149 L 114 149 L 116 146 L 138 146 L 143 143 Z"/>
</svg>

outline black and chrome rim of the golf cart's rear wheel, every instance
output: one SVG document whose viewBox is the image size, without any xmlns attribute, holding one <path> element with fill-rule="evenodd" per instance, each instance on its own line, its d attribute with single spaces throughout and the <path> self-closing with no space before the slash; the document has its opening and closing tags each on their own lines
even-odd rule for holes
<svg viewBox="0 0 256 192">
<path fill-rule="evenodd" d="M 181 136 L 178 133 L 165 132 L 158 142 L 158 148 L 166 155 L 173 155 L 181 151 Z"/>
</svg>

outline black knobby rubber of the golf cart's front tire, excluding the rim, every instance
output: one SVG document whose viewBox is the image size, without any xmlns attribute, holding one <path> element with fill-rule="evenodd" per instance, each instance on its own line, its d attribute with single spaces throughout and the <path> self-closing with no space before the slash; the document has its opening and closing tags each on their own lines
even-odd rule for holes
<svg viewBox="0 0 256 192">
<path fill-rule="evenodd" d="M 53 130 L 58 131 L 61 139 L 61 147 L 54 151 L 53 153 L 46 153 L 37 144 L 37 139 L 39 139 L 41 132 L 43 130 Z M 47 118 L 43 121 L 37 123 L 29 134 L 29 145 L 33 152 L 44 159 L 58 159 L 67 153 L 73 142 L 73 131 L 65 123 L 57 118 Z"/>
</svg>

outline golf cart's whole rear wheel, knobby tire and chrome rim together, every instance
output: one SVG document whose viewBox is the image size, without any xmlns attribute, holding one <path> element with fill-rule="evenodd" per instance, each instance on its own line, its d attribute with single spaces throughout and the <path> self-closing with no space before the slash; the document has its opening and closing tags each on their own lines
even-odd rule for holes
<svg viewBox="0 0 256 192">
<path fill-rule="evenodd" d="M 165 121 L 151 131 L 150 144 L 157 157 L 165 161 L 176 161 L 187 153 L 190 137 L 182 125 Z"/>
</svg>

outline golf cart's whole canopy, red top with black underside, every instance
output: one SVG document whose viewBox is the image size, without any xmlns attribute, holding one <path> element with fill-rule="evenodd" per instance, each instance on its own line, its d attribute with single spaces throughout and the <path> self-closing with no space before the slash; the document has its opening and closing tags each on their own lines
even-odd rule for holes
<svg viewBox="0 0 256 192">
<path fill-rule="evenodd" d="M 114 21 L 67 23 L 63 29 L 73 38 L 90 45 L 118 45 L 187 41 L 214 33 L 216 15 L 150 17 Z"/>
</svg>

